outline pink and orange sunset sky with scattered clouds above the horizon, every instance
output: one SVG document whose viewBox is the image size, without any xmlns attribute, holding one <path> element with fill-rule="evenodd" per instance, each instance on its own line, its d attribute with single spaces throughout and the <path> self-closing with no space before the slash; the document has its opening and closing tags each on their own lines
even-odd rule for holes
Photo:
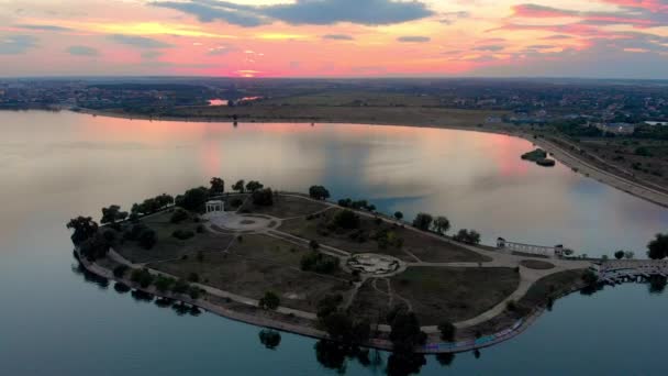
<svg viewBox="0 0 668 376">
<path fill-rule="evenodd" d="M 668 0 L 0 0 L 0 77 L 668 79 Z"/>
</svg>

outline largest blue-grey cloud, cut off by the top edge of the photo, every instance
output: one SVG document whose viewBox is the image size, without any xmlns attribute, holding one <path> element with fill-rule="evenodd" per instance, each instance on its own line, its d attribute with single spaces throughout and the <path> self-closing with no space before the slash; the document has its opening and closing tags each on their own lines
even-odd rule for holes
<svg viewBox="0 0 668 376">
<path fill-rule="evenodd" d="M 154 1 L 151 4 L 192 14 L 202 22 L 224 21 L 253 27 L 275 21 L 290 24 L 329 25 L 350 22 L 386 25 L 413 21 L 434 12 L 420 1 L 396 0 L 297 0 L 275 5 L 242 5 L 229 1 Z"/>
</svg>

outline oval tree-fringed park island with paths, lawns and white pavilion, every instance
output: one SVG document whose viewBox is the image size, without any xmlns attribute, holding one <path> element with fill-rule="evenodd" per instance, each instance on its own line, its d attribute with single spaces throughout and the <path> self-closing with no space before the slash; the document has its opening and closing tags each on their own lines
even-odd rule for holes
<svg viewBox="0 0 668 376">
<path fill-rule="evenodd" d="M 399 354 L 477 350 L 521 333 L 553 302 L 598 281 L 592 262 L 450 233 L 444 215 L 330 201 L 323 186 L 279 192 L 222 178 L 78 217 L 75 256 L 130 290 L 259 327 Z M 267 332 L 266 339 L 271 338 Z M 407 355 L 410 356 L 410 355 Z"/>
</svg>

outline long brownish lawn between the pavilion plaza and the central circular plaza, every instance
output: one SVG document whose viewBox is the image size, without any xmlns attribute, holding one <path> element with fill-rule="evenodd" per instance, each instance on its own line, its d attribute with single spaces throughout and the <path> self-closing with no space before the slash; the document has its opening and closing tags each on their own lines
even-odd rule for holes
<svg viewBox="0 0 668 376">
<path fill-rule="evenodd" d="M 274 291 L 280 297 L 281 306 L 311 312 L 315 311 L 315 303 L 325 295 L 345 294 L 350 289 L 348 283 L 334 277 L 219 252 L 204 254 L 202 262 L 191 255 L 187 259 L 149 266 L 182 278 L 197 273 L 205 285 L 254 299 L 261 298 L 266 291 Z"/>
</svg>

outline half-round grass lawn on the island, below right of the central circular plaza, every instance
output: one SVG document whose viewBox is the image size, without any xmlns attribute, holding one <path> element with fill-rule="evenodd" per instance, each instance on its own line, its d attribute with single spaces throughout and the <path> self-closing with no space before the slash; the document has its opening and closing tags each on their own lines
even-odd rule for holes
<svg viewBox="0 0 668 376">
<path fill-rule="evenodd" d="M 520 284 L 512 268 L 409 267 L 392 277 L 392 290 L 409 299 L 422 325 L 474 318 L 511 295 Z"/>
</svg>

